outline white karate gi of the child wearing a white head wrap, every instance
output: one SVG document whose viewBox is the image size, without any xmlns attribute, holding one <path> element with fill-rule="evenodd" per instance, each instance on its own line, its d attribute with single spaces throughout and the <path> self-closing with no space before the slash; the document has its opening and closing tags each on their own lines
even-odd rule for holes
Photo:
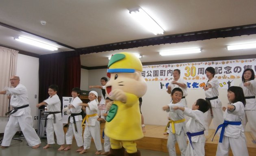
<svg viewBox="0 0 256 156">
<path fill-rule="evenodd" d="M 98 102 L 96 100 L 88 102 L 89 107 L 86 107 L 86 115 L 97 114 Z M 87 150 L 91 146 L 91 137 L 95 143 L 95 147 L 98 151 L 102 150 L 101 140 L 100 140 L 100 121 L 97 120 L 98 115 L 94 117 L 89 117 L 86 121 L 85 131 L 84 131 L 84 149 Z"/>
</svg>

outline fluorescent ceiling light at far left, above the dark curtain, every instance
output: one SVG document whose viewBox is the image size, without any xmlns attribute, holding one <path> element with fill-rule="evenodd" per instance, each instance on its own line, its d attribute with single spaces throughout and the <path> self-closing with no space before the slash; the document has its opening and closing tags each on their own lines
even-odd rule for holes
<svg viewBox="0 0 256 156">
<path fill-rule="evenodd" d="M 36 40 L 33 40 L 33 39 L 29 39 L 29 38 L 22 37 L 22 36 L 19 36 L 19 37 L 14 38 L 14 39 L 17 40 L 17 41 L 23 42 L 23 43 L 34 45 L 34 46 L 37 46 L 37 47 L 40 47 L 40 48 L 44 48 L 44 49 L 47 49 L 47 50 L 51 50 L 51 51 L 59 49 L 59 48 L 54 47 L 52 45 L 49 45 L 47 43 L 43 43 L 43 42 L 36 41 Z"/>
</svg>

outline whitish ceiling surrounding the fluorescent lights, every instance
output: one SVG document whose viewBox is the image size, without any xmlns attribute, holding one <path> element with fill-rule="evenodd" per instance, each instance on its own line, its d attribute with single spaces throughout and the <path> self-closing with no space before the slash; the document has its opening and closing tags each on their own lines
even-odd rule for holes
<svg viewBox="0 0 256 156">
<path fill-rule="evenodd" d="M 57 44 L 58 51 L 158 37 L 132 19 L 128 9 L 141 6 L 165 30 L 165 35 L 256 24 L 255 0 L 0 0 L 0 45 L 50 54 L 13 39 L 19 35 Z M 40 21 L 46 21 L 41 25 Z M 184 60 L 256 54 L 255 50 L 227 51 L 226 45 L 256 42 L 256 35 L 243 35 L 150 45 L 81 55 L 81 65 L 106 66 L 117 52 L 143 55 L 141 62 Z M 169 49 L 202 48 L 202 53 L 161 56 Z"/>
</svg>

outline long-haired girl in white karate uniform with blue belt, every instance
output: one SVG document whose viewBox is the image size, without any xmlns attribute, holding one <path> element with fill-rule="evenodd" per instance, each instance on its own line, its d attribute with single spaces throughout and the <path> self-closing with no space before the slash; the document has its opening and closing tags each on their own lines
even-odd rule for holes
<svg viewBox="0 0 256 156">
<path fill-rule="evenodd" d="M 224 123 L 219 125 L 216 130 L 217 132 L 221 128 L 216 156 L 228 156 L 229 148 L 231 148 L 234 156 L 249 156 L 244 129 L 241 124 L 245 109 L 243 89 L 236 86 L 229 87 L 228 100 L 230 104 L 227 108 L 223 107 L 223 111 L 225 111 Z"/>
</svg>

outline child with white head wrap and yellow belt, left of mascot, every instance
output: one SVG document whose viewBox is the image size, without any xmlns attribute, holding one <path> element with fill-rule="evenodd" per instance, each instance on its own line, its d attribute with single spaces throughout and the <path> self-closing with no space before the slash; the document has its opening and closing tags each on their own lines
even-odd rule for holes
<svg viewBox="0 0 256 156">
<path fill-rule="evenodd" d="M 84 150 L 82 150 L 80 154 L 87 152 L 91 146 L 91 137 L 93 137 L 97 149 L 95 155 L 99 155 L 102 150 L 102 145 L 100 140 L 100 121 L 97 120 L 98 93 L 96 91 L 90 91 L 88 98 L 90 100 L 88 104 L 82 104 L 82 106 L 86 107 L 86 124 L 84 131 Z"/>
</svg>

